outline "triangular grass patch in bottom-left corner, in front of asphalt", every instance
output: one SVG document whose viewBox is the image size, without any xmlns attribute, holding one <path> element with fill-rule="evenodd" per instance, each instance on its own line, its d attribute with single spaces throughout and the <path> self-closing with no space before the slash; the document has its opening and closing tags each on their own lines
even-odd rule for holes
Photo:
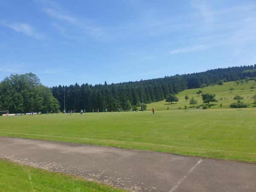
<svg viewBox="0 0 256 192">
<path fill-rule="evenodd" d="M 0 192 L 121 192 L 105 184 L 0 160 Z"/>
</svg>

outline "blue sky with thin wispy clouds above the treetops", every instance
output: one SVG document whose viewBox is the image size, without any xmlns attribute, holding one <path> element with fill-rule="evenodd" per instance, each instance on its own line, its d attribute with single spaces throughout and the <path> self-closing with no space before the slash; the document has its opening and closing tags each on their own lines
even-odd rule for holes
<svg viewBox="0 0 256 192">
<path fill-rule="evenodd" d="M 110 84 L 255 63 L 255 0 L 0 0 L 1 80 Z"/>
</svg>

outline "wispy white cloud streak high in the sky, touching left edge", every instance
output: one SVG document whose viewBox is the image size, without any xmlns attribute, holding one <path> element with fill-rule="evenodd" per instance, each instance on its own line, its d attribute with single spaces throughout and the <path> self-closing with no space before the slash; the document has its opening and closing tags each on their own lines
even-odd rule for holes
<svg viewBox="0 0 256 192">
<path fill-rule="evenodd" d="M 21 32 L 29 37 L 35 39 L 44 39 L 44 35 L 37 32 L 34 27 L 28 23 L 10 23 L 4 20 L 0 20 L 0 24 L 6 26 L 14 31 Z"/>
</svg>

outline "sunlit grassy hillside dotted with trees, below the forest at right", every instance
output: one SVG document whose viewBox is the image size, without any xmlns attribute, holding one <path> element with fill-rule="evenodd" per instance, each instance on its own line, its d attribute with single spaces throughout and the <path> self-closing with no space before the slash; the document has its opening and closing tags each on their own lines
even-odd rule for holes
<svg viewBox="0 0 256 192">
<path fill-rule="evenodd" d="M 251 90 L 250 86 L 254 85 L 256 87 L 256 84 L 254 84 L 254 83 L 255 83 L 254 81 L 249 81 L 248 84 L 244 83 L 244 84 L 236 85 L 236 83 L 234 81 L 230 81 L 230 82 L 224 83 L 223 85 L 215 84 L 214 86 L 209 86 L 209 87 L 204 87 L 204 88 L 187 89 L 187 90 L 184 90 L 176 95 L 179 98 L 178 102 L 173 102 L 172 105 L 171 105 L 171 103 L 165 102 L 165 100 L 160 101 L 160 102 L 150 103 L 150 104 L 147 104 L 147 110 L 151 110 L 151 108 L 153 108 L 153 107 L 157 111 L 167 110 L 167 108 L 169 108 L 169 110 L 177 110 L 179 108 L 184 109 L 185 105 L 191 109 L 192 105 L 189 105 L 189 100 L 192 96 L 194 96 L 194 98 L 198 101 L 197 105 L 202 105 L 203 101 L 202 101 L 201 95 L 198 96 L 196 94 L 196 92 L 198 92 L 198 90 L 202 90 L 204 93 L 215 93 L 215 95 L 216 95 L 215 98 L 218 100 L 218 102 L 212 102 L 212 104 L 214 104 L 214 106 L 212 106 L 209 109 L 230 108 L 229 105 L 232 102 L 236 102 L 236 100 L 233 100 L 233 97 L 236 95 L 244 97 L 242 102 L 250 104 L 249 108 L 252 108 L 253 107 L 252 96 L 256 94 L 256 89 Z M 230 92 L 230 90 L 229 90 L 230 87 L 234 88 L 234 90 L 232 91 L 233 93 Z M 243 91 L 241 90 L 242 88 L 244 88 Z M 186 95 L 189 96 L 189 99 L 187 102 L 184 99 L 184 97 Z M 221 97 L 222 97 L 222 100 L 219 100 L 219 99 L 221 99 Z M 224 99 L 224 97 L 227 99 Z M 222 107 L 220 106 L 221 104 L 222 104 Z M 195 105 L 195 106 L 197 106 L 197 105 Z"/>
</svg>

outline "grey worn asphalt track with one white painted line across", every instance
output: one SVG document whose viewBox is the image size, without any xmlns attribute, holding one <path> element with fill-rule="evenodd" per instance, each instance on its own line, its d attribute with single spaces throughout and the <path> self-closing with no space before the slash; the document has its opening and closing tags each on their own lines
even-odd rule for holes
<svg viewBox="0 0 256 192">
<path fill-rule="evenodd" d="M 254 191 L 256 164 L 0 137 L 0 158 L 130 191 Z"/>
</svg>

